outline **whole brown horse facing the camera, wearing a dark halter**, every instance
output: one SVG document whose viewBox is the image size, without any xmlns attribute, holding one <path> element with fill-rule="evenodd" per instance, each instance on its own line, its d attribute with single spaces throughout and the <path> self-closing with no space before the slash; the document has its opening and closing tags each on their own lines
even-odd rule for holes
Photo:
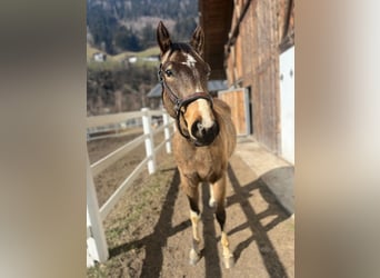
<svg viewBox="0 0 380 278">
<path fill-rule="evenodd" d="M 172 138 L 173 156 L 180 173 L 181 189 L 190 205 L 192 246 L 190 264 L 201 258 L 199 185 L 210 185 L 209 206 L 221 229 L 221 245 L 226 268 L 233 266 L 233 255 L 224 231 L 226 183 L 228 160 L 237 143 L 237 132 L 230 107 L 212 98 L 207 88 L 211 69 L 202 59 L 204 33 L 196 28 L 189 43 L 172 42 L 162 21 L 157 27 L 160 48 L 158 72 L 162 85 L 162 103 L 176 119 Z"/>
</svg>

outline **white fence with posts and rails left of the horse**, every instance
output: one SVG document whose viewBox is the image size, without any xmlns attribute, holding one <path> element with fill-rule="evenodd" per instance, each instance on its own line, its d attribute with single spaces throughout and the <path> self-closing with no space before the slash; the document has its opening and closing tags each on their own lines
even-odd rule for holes
<svg viewBox="0 0 380 278">
<path fill-rule="evenodd" d="M 163 125 L 159 128 L 152 129 L 152 117 L 163 117 Z M 170 145 L 170 127 L 172 120 L 164 111 L 149 110 L 148 108 L 141 111 L 126 112 L 117 115 L 97 116 L 87 118 L 87 128 L 89 130 L 101 127 L 119 125 L 130 119 L 142 119 L 143 135 L 126 143 L 119 149 L 107 155 L 99 161 L 90 166 L 89 158 L 87 159 L 87 266 L 93 266 L 94 261 L 103 262 L 108 259 L 108 246 L 106 241 L 102 220 L 111 211 L 113 206 L 121 198 L 126 189 L 134 181 L 134 179 L 148 166 L 148 172 L 156 171 L 156 152 L 162 147 L 166 147 L 168 153 L 171 152 Z M 153 136 L 158 132 L 164 133 L 164 140 L 154 148 Z M 129 151 L 144 142 L 147 157 L 134 168 L 134 170 L 124 179 L 117 188 L 112 196 L 99 209 L 97 193 L 93 185 L 93 177 L 102 170 L 114 163 L 120 158 L 124 157 Z"/>
</svg>

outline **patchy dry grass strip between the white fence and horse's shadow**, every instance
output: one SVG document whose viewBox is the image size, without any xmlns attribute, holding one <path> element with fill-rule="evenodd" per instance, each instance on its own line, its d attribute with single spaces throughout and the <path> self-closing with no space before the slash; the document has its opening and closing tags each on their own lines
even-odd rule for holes
<svg viewBox="0 0 380 278">
<path fill-rule="evenodd" d="M 87 269 L 87 277 L 134 277 L 129 264 L 141 261 L 143 247 L 133 240 L 148 236 L 161 214 L 176 171 L 172 156 L 162 156 L 159 169 L 129 188 L 104 220 L 104 232 L 110 249 L 130 244 L 122 254 L 111 257 L 104 264 Z M 168 170 L 169 169 L 169 170 Z M 147 217 L 149 216 L 150 219 Z M 138 258 L 140 257 L 140 258 Z M 134 261 L 134 262 L 133 262 Z"/>
</svg>

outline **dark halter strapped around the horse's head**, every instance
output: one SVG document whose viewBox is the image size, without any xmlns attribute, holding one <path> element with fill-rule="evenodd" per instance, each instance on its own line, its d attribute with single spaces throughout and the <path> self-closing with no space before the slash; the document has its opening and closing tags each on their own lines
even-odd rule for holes
<svg viewBox="0 0 380 278">
<path fill-rule="evenodd" d="M 199 91 L 199 92 L 194 92 L 191 93 L 190 96 L 186 97 L 186 98 L 179 98 L 178 95 L 176 95 L 171 88 L 167 85 L 164 78 L 162 77 L 162 63 L 160 63 L 160 69 L 158 71 L 158 79 L 159 82 L 162 86 L 162 98 L 163 98 L 163 91 L 164 89 L 167 89 L 166 91 L 168 92 L 169 99 L 171 100 L 171 102 L 174 105 L 174 111 L 176 111 L 176 121 L 177 121 L 177 128 L 180 131 L 181 136 L 184 137 L 188 140 L 191 140 L 189 135 L 183 133 L 181 127 L 180 127 L 180 117 L 181 117 L 181 108 L 183 107 L 184 109 L 187 109 L 187 107 L 198 100 L 198 99 L 206 99 L 210 102 L 211 109 L 213 106 L 213 101 L 212 101 L 212 97 L 203 91 Z M 184 121 L 186 122 L 186 121 Z M 186 123 L 187 125 L 187 123 Z"/>
</svg>

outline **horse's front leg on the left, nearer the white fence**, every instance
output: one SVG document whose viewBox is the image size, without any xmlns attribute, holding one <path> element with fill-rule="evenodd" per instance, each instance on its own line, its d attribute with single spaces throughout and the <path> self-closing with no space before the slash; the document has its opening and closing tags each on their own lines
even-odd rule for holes
<svg viewBox="0 0 380 278">
<path fill-rule="evenodd" d="M 196 265 L 200 260 L 200 234 L 199 234 L 199 190 L 198 182 L 189 180 L 186 177 L 181 177 L 182 187 L 190 205 L 190 220 L 192 227 L 192 245 L 190 249 L 190 265 Z"/>
</svg>

